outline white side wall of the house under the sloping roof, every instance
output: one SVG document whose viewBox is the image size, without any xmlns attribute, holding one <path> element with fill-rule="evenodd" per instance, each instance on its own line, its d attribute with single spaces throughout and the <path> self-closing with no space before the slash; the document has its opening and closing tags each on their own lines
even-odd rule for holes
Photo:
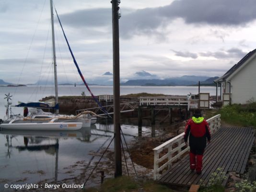
<svg viewBox="0 0 256 192">
<path fill-rule="evenodd" d="M 256 58 L 232 77 L 231 93 L 232 103 L 243 104 L 251 98 L 256 101 Z"/>
</svg>

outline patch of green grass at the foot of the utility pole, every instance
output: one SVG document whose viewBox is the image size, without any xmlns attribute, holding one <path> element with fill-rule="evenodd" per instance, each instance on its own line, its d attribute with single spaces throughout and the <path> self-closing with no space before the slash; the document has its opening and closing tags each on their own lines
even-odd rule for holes
<svg viewBox="0 0 256 192">
<path fill-rule="evenodd" d="M 154 181 L 138 181 L 131 177 L 122 176 L 115 179 L 106 179 L 99 189 L 89 188 L 83 192 L 174 192 L 165 185 Z"/>
</svg>

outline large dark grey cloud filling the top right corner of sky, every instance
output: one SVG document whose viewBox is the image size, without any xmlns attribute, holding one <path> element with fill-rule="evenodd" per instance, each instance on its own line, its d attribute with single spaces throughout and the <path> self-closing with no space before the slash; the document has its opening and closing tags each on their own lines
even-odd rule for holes
<svg viewBox="0 0 256 192">
<path fill-rule="evenodd" d="M 256 19 L 254 0 L 175 0 L 161 8 L 163 16 L 186 23 L 239 25 Z"/>
</svg>

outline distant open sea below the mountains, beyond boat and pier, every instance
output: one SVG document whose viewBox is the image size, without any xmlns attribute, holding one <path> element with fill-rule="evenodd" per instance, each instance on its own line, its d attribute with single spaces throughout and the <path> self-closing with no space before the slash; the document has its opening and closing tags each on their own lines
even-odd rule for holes
<svg viewBox="0 0 256 192">
<path fill-rule="evenodd" d="M 113 95 L 112 86 L 90 86 L 94 95 Z M 58 95 L 81 95 L 84 91 L 87 96 L 90 93 L 86 90 L 85 86 L 58 86 Z M 120 94 L 126 95 L 130 93 L 162 93 L 166 95 L 187 95 L 190 92 L 192 94 L 198 94 L 198 87 L 188 86 L 171 86 L 171 87 L 148 87 L 148 86 L 121 86 Z M 210 93 L 210 95 L 216 95 L 215 87 L 201 87 L 200 92 Z M 55 95 L 53 86 L 27 86 L 27 87 L 0 87 L 0 119 L 3 119 L 6 113 L 4 105 L 7 103 L 4 100 L 5 94 L 10 93 L 12 95 L 12 103 L 17 104 L 20 102 L 32 102 L 38 101 L 43 97 Z M 12 108 L 14 113 L 23 114 L 22 108 Z"/>
</svg>

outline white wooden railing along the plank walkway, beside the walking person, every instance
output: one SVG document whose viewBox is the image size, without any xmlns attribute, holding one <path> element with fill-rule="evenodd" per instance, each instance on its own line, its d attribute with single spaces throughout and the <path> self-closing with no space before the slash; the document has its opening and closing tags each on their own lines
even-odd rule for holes
<svg viewBox="0 0 256 192">
<path fill-rule="evenodd" d="M 206 120 L 209 124 L 211 134 L 214 134 L 221 127 L 221 115 L 215 115 Z M 160 176 L 160 172 L 171 168 L 173 163 L 182 158 L 189 146 L 185 147 L 184 133 L 175 136 L 174 138 L 166 141 L 162 145 L 155 147 L 154 151 L 154 180 L 157 180 Z M 185 147 L 185 148 L 184 148 Z M 161 154 L 161 157 L 160 157 Z"/>
</svg>

